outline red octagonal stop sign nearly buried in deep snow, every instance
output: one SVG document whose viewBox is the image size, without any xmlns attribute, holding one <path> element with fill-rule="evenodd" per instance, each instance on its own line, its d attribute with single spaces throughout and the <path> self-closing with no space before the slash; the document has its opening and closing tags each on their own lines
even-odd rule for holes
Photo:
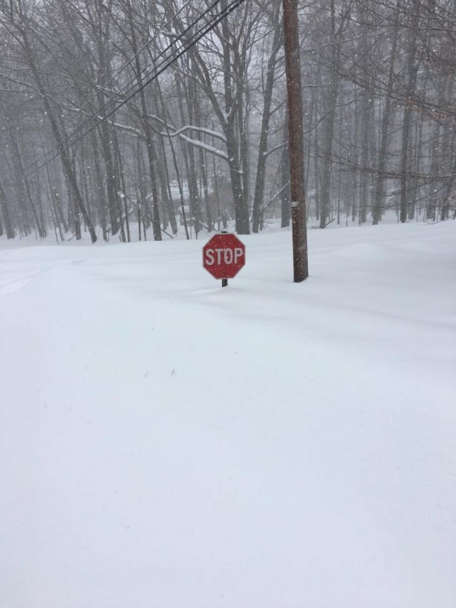
<svg viewBox="0 0 456 608">
<path fill-rule="evenodd" d="M 245 246 L 234 234 L 216 234 L 202 248 L 202 265 L 215 278 L 233 278 L 245 264 Z"/>
</svg>

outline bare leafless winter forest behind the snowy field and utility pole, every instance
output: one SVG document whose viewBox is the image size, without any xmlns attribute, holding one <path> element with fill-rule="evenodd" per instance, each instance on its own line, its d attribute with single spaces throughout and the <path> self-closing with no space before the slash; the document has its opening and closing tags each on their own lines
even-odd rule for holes
<svg viewBox="0 0 456 608">
<path fill-rule="evenodd" d="M 1 0 L 0 237 L 289 226 L 281 0 Z M 455 218 L 456 8 L 299 1 L 308 221 Z"/>
</svg>

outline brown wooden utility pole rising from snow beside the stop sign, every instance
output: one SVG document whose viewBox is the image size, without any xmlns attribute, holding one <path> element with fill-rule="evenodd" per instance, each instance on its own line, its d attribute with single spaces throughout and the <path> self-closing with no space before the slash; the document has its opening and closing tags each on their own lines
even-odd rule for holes
<svg viewBox="0 0 456 608">
<path fill-rule="evenodd" d="M 291 189 L 291 232 L 294 282 L 309 276 L 307 256 L 306 194 L 304 189 L 304 137 L 302 129 L 301 61 L 299 60 L 298 0 L 283 0 L 286 90 Z"/>
</svg>

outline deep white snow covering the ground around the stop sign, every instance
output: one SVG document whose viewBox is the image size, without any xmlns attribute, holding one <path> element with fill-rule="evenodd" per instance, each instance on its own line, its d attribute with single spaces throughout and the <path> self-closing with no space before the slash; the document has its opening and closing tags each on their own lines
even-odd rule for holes
<svg viewBox="0 0 456 608">
<path fill-rule="evenodd" d="M 0 243 L 1 608 L 455 608 L 456 222 Z"/>
</svg>

